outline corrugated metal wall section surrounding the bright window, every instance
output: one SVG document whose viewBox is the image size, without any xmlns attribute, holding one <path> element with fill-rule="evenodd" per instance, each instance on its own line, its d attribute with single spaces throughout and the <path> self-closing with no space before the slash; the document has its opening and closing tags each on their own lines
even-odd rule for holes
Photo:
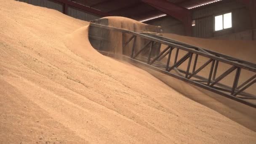
<svg viewBox="0 0 256 144">
<path fill-rule="evenodd" d="M 214 31 L 214 16 L 232 12 L 232 29 Z M 221 3 L 197 8 L 192 11 L 195 26 L 192 27 L 193 37 L 219 37 L 251 29 L 250 13 L 248 8 L 235 0 L 223 0 Z"/>
</svg>

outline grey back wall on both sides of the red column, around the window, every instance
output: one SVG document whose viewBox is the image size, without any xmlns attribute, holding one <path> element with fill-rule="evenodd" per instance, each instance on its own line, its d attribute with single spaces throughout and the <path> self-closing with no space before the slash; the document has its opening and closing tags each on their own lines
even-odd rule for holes
<svg viewBox="0 0 256 144">
<path fill-rule="evenodd" d="M 214 17 L 229 12 L 232 12 L 232 28 L 215 31 Z M 195 20 L 195 26 L 192 27 L 193 37 L 224 40 L 256 39 L 256 28 L 252 24 L 249 9 L 235 0 L 223 0 L 195 8 L 192 10 L 192 19 Z M 147 24 L 161 26 L 164 33 L 185 35 L 184 25 L 171 16 L 147 21 Z"/>
</svg>

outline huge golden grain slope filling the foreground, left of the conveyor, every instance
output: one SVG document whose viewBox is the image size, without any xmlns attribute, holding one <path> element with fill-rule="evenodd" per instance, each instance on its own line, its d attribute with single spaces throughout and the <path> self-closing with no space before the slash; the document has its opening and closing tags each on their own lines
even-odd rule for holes
<svg viewBox="0 0 256 144">
<path fill-rule="evenodd" d="M 0 0 L 0 143 L 253 143 L 256 133 L 96 52 L 88 22 Z"/>
</svg>

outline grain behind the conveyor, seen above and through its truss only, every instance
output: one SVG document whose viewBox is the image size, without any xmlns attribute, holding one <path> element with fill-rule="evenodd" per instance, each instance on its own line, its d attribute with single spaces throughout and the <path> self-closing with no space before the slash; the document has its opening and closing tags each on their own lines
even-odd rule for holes
<svg viewBox="0 0 256 144">
<path fill-rule="evenodd" d="M 186 37 L 181 35 L 175 35 L 175 34 L 163 34 L 165 37 L 170 37 L 174 40 L 182 41 L 184 43 L 189 43 L 191 45 L 198 46 L 200 48 L 209 49 L 212 51 L 216 51 L 219 53 L 223 53 L 229 56 L 232 56 L 234 58 L 242 59 L 245 61 L 249 61 L 252 63 L 256 63 L 256 41 L 245 41 L 245 40 L 210 40 L 210 39 L 202 39 L 202 38 L 195 38 L 195 37 Z M 187 52 L 186 51 L 180 51 L 180 56 L 184 56 Z M 194 56 L 195 57 L 195 56 Z M 198 58 L 199 64 L 197 67 L 200 67 L 203 65 L 206 61 L 209 59 L 202 56 L 199 56 Z M 193 64 L 193 62 L 192 62 Z M 181 65 L 183 69 L 187 69 L 187 64 Z M 218 71 L 216 77 L 224 73 L 227 69 L 229 69 L 231 65 L 219 63 Z M 209 64 L 205 69 L 203 69 L 201 72 L 199 72 L 200 75 L 203 75 L 204 77 L 208 77 L 209 71 L 211 68 L 211 64 Z M 255 75 L 254 72 L 242 69 L 241 75 L 239 78 L 238 85 L 244 83 L 249 78 L 253 77 Z M 229 74 L 227 77 L 225 77 L 223 80 L 221 80 L 221 83 L 224 83 L 226 85 L 229 85 L 232 87 L 232 84 L 234 82 L 235 77 L 235 71 Z M 256 85 L 252 85 L 245 91 L 248 93 L 255 94 Z M 253 103 L 256 104 L 256 100 L 251 100 Z"/>
</svg>

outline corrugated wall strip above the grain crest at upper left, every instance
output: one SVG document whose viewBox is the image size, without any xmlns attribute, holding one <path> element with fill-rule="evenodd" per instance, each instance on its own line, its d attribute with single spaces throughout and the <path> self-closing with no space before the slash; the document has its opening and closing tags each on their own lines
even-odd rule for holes
<svg viewBox="0 0 256 144">
<path fill-rule="evenodd" d="M 42 7 L 46 7 L 46 8 L 55 9 L 57 11 L 60 11 L 61 13 L 63 12 L 61 4 L 54 3 L 50 0 L 17 0 L 17 1 L 29 3 L 29 4 L 32 4 L 32 5 L 42 6 Z M 99 16 L 95 16 L 91 13 L 86 13 L 84 11 L 80 11 L 80 10 L 77 10 L 75 8 L 70 8 L 69 7 L 67 10 L 68 10 L 67 11 L 68 16 L 72 16 L 76 19 L 81 19 L 81 20 L 84 20 L 84 21 L 91 21 L 91 20 L 101 18 Z"/>
</svg>

